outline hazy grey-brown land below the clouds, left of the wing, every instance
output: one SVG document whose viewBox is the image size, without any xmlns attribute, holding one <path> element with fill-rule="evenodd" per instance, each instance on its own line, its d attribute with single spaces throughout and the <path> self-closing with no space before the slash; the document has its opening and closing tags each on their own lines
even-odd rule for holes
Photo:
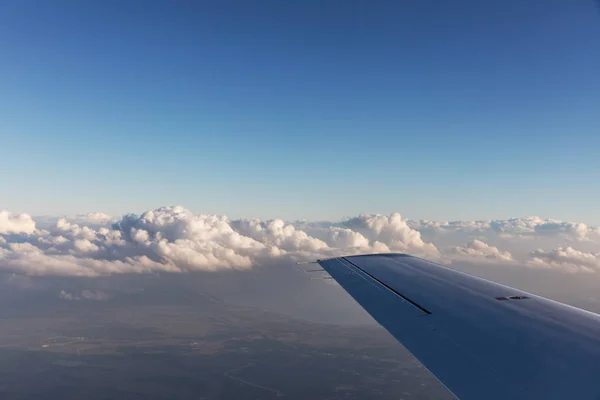
<svg viewBox="0 0 600 400">
<path fill-rule="evenodd" d="M 90 282 L 5 279 L 2 399 L 451 398 L 374 324 L 225 303 L 198 289 L 214 275 Z"/>
</svg>

